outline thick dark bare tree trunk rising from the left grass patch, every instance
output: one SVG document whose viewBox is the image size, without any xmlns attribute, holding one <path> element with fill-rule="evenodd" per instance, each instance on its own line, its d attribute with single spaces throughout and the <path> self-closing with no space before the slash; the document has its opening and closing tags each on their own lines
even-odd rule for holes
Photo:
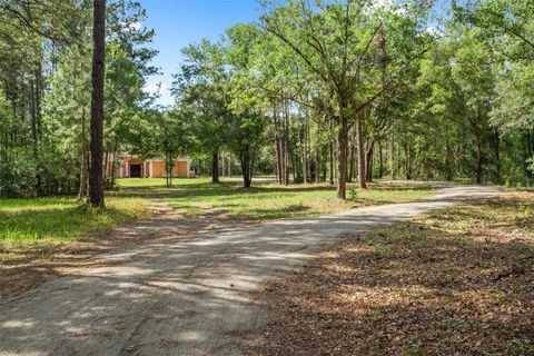
<svg viewBox="0 0 534 356">
<path fill-rule="evenodd" d="M 89 205 L 103 208 L 103 71 L 106 62 L 106 0 L 95 0 L 92 28 L 91 166 Z"/>
</svg>

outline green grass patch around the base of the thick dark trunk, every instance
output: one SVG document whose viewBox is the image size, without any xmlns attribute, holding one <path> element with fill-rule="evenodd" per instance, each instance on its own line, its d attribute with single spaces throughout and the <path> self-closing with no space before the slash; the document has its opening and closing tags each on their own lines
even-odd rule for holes
<svg viewBox="0 0 534 356">
<path fill-rule="evenodd" d="M 28 246 L 71 241 L 149 215 L 138 198 L 107 197 L 106 205 L 97 212 L 85 211 L 76 198 L 0 199 L 0 257 Z"/>
</svg>

